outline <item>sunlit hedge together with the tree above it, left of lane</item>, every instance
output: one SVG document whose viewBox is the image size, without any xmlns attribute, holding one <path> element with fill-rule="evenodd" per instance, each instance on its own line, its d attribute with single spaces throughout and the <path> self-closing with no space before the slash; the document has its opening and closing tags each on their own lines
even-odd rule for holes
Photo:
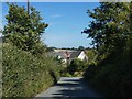
<svg viewBox="0 0 132 99">
<path fill-rule="evenodd" d="M 41 35 L 48 26 L 38 11 L 9 4 L 3 30 L 2 97 L 34 97 L 59 78 L 61 64 L 45 55 Z"/>
</svg>

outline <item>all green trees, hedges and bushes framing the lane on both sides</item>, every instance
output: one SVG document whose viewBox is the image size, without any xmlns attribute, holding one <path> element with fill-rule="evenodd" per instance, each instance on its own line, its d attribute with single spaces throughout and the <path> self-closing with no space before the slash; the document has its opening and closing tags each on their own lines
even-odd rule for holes
<svg viewBox="0 0 132 99">
<path fill-rule="evenodd" d="M 68 67 L 45 56 L 53 51 L 41 41 L 48 25 L 40 12 L 30 10 L 9 4 L 2 47 L 3 97 L 33 97 L 54 85 L 61 74 L 80 76 L 84 70 L 85 79 L 106 96 L 131 96 L 132 3 L 101 2 L 94 12 L 88 11 L 94 20 L 84 33 L 94 40 L 96 50 L 87 52 L 88 63 L 75 58 Z"/>
</svg>

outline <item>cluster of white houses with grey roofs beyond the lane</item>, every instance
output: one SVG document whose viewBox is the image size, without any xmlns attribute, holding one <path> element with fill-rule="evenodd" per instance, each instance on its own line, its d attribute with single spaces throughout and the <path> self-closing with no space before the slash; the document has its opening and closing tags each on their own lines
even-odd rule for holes
<svg viewBox="0 0 132 99">
<path fill-rule="evenodd" d="M 79 58 L 81 61 L 88 61 L 88 56 L 85 54 L 84 51 L 66 51 L 66 50 L 57 50 L 54 52 L 48 53 L 50 56 L 57 57 L 62 59 L 64 64 L 67 62 L 70 63 L 74 58 Z"/>
</svg>

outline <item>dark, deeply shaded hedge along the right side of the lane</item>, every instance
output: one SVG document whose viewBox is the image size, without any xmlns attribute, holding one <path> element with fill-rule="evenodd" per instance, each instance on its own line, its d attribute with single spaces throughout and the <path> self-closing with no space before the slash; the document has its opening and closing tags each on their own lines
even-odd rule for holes
<svg viewBox="0 0 132 99">
<path fill-rule="evenodd" d="M 97 65 L 90 65 L 84 74 L 88 82 L 109 97 L 127 97 L 132 91 L 132 61 L 130 52 L 110 55 Z M 113 57 L 114 56 L 114 57 Z"/>
</svg>

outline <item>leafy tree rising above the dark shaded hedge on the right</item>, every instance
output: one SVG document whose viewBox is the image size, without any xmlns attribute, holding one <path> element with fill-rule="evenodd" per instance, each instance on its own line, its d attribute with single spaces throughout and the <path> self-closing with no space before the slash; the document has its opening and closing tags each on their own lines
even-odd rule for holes
<svg viewBox="0 0 132 99">
<path fill-rule="evenodd" d="M 94 20 L 82 33 L 91 37 L 99 51 L 120 50 L 125 45 L 130 35 L 130 3 L 128 2 L 101 2 L 94 12 L 87 12 Z"/>
</svg>

